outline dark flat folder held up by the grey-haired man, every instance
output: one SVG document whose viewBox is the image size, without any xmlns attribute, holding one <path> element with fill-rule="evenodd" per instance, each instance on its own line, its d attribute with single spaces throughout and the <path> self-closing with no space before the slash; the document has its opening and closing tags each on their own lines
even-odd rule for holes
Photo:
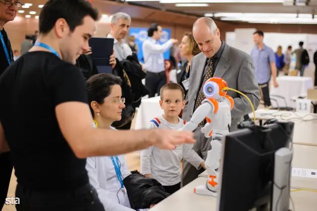
<svg viewBox="0 0 317 211">
<path fill-rule="evenodd" d="M 110 65 L 110 56 L 113 54 L 113 38 L 93 37 L 89 40 L 89 46 L 92 48 L 92 58 L 98 73 L 112 73 Z"/>
</svg>

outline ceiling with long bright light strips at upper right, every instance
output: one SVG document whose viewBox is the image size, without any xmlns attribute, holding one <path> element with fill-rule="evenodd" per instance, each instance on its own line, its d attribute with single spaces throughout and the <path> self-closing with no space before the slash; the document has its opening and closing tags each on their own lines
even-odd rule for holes
<svg viewBox="0 0 317 211">
<path fill-rule="evenodd" d="M 125 1 L 127 4 L 151 7 L 163 11 L 175 11 L 196 16 L 210 16 L 214 17 L 214 19 L 230 22 L 317 24 L 317 0 L 295 0 L 297 1 L 297 6 L 293 5 L 294 0 L 112 1 Z M 307 1 L 308 5 L 305 4 Z M 297 17 L 297 14 L 299 14 L 299 17 Z M 312 19 L 312 15 L 316 15 L 315 19 Z"/>
</svg>

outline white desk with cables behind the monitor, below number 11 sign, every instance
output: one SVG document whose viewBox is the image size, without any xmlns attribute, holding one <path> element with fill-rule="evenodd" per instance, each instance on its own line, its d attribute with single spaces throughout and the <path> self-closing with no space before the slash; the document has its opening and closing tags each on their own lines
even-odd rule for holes
<svg viewBox="0 0 317 211">
<path fill-rule="evenodd" d="M 289 111 L 277 111 L 268 109 L 258 109 L 256 112 L 256 119 L 266 121 L 270 119 L 278 120 L 289 120 L 295 123 L 293 142 L 299 144 L 317 144 L 317 115 L 316 114 L 300 114 Z M 306 116 L 306 117 L 305 117 Z M 249 114 L 249 117 L 253 119 L 253 113 Z M 311 121 L 300 121 L 298 118 L 304 117 L 305 120 Z M 297 118 L 297 119 L 293 119 Z"/>
</svg>

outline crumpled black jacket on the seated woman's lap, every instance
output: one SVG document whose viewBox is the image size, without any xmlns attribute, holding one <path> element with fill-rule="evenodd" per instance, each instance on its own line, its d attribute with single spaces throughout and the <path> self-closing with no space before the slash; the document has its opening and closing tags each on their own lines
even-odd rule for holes
<svg viewBox="0 0 317 211">
<path fill-rule="evenodd" d="M 132 209 L 146 209 L 157 204 L 170 194 L 165 192 L 162 184 L 156 179 L 145 177 L 138 171 L 131 171 L 131 175 L 123 180 Z"/>
</svg>

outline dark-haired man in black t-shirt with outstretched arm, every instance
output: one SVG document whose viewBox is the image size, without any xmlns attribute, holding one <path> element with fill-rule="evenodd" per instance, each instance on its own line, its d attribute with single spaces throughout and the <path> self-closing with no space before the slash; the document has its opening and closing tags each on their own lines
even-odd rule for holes
<svg viewBox="0 0 317 211">
<path fill-rule="evenodd" d="M 49 0 L 34 47 L 0 77 L 0 153 L 12 153 L 20 210 L 104 210 L 86 158 L 151 145 L 175 149 L 193 134 L 93 127 L 86 81 L 75 66 L 89 49 L 98 12 L 85 0 Z"/>
</svg>

